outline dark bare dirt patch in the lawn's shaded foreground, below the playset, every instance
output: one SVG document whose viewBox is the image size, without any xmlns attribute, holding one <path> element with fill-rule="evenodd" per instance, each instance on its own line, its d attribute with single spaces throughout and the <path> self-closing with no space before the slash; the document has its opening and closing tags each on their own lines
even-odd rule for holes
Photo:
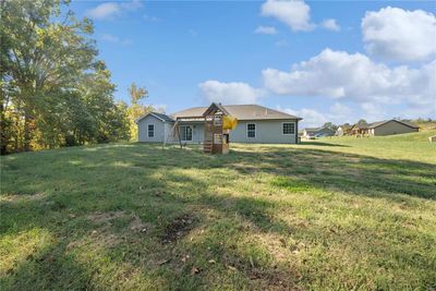
<svg viewBox="0 0 436 291">
<path fill-rule="evenodd" d="M 164 244 L 175 242 L 186 235 L 196 225 L 197 219 L 189 214 L 177 217 L 165 228 L 160 241 Z"/>
</svg>

